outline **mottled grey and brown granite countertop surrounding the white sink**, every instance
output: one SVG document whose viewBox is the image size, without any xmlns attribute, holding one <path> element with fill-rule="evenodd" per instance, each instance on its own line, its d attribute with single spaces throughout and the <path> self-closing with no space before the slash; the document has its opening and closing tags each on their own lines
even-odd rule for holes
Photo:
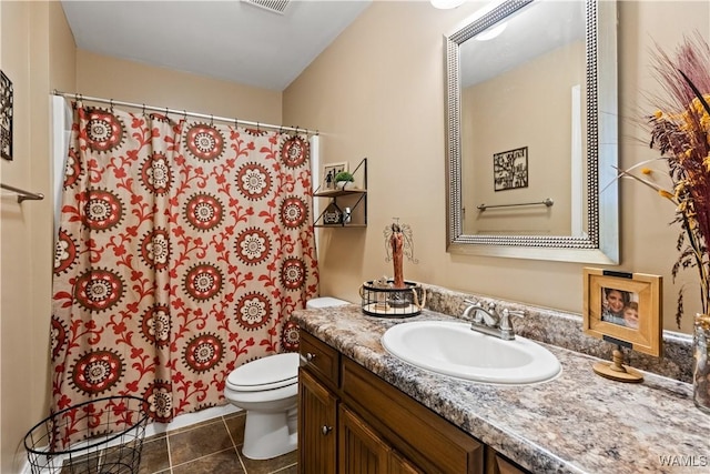
<svg viewBox="0 0 710 474">
<path fill-rule="evenodd" d="M 373 317 L 349 304 L 298 310 L 292 319 L 531 472 L 710 472 L 710 416 L 694 406 L 688 383 L 648 372 L 642 383 L 613 382 L 592 372 L 599 359 L 542 343 L 562 365 L 557 379 L 481 384 L 419 370 L 382 346 L 394 324 L 452 316 L 424 310 L 406 320 Z"/>
</svg>

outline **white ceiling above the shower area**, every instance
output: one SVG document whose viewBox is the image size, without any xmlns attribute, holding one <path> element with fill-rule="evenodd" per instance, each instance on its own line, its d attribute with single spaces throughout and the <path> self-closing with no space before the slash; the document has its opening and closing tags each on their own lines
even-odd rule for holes
<svg viewBox="0 0 710 474">
<path fill-rule="evenodd" d="M 62 0 L 79 49 L 275 91 L 369 3 L 292 0 L 282 14 L 243 0 Z"/>
</svg>

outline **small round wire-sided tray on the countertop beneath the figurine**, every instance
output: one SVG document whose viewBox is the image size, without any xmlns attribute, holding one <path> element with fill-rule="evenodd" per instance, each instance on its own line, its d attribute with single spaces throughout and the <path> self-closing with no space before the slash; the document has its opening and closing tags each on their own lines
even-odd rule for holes
<svg viewBox="0 0 710 474">
<path fill-rule="evenodd" d="M 384 279 L 383 279 L 384 280 Z M 405 288 L 393 288 L 393 280 L 368 281 L 359 289 L 363 313 L 378 317 L 410 317 L 422 312 L 426 303 L 426 292 L 413 282 L 405 281 Z"/>
</svg>

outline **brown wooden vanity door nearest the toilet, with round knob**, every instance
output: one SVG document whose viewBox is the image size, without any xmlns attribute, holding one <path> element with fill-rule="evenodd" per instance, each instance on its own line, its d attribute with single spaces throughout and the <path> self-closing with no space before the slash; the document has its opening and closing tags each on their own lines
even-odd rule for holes
<svg viewBox="0 0 710 474">
<path fill-rule="evenodd" d="M 307 371 L 298 371 L 298 472 L 335 474 L 337 399 Z"/>
</svg>

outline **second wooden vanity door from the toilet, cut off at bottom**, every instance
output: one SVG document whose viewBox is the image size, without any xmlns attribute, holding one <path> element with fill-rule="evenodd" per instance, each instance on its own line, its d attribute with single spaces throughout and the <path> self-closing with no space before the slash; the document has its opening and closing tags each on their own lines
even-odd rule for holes
<svg viewBox="0 0 710 474">
<path fill-rule="evenodd" d="M 389 445 L 345 405 L 338 412 L 338 473 L 386 474 Z"/>
</svg>

